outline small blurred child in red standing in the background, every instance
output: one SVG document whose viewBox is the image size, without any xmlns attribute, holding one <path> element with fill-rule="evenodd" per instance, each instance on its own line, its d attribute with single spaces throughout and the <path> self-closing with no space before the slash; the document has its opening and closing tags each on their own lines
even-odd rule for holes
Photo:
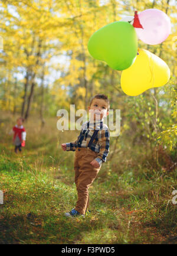
<svg viewBox="0 0 177 256">
<path fill-rule="evenodd" d="M 15 145 L 15 153 L 17 153 L 17 150 L 21 152 L 21 147 L 25 147 L 25 140 L 27 132 L 25 131 L 25 128 L 23 127 L 23 118 L 17 119 L 17 125 L 15 125 L 12 130 L 14 131 L 14 145 Z"/>
</svg>

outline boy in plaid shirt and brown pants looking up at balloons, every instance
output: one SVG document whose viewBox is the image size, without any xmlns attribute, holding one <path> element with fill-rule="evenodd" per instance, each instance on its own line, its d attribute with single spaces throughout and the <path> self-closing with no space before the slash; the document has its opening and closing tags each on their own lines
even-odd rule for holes
<svg viewBox="0 0 177 256">
<path fill-rule="evenodd" d="M 89 186 L 109 154 L 110 133 L 107 125 L 103 124 L 103 118 L 109 115 L 109 107 L 106 95 L 93 96 L 88 107 L 89 114 L 93 114 L 89 122 L 84 122 L 76 141 L 61 144 L 64 151 L 76 151 L 74 170 L 78 200 L 76 207 L 65 213 L 67 217 L 84 217 L 86 210 L 89 210 Z"/>
</svg>

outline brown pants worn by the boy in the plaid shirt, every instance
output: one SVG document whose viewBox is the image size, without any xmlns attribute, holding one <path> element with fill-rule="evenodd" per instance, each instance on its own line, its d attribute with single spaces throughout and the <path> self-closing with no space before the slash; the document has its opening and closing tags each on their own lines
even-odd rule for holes
<svg viewBox="0 0 177 256">
<path fill-rule="evenodd" d="M 74 170 L 78 195 L 75 209 L 81 214 L 85 214 L 86 209 L 89 209 L 89 186 L 101 168 L 101 166 L 94 168 L 90 164 L 98 154 L 90 148 L 76 148 L 75 151 Z"/>
</svg>

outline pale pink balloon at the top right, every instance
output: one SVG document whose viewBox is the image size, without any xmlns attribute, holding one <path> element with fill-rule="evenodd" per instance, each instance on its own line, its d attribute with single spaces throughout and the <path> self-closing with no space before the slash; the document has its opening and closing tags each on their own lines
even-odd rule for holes
<svg viewBox="0 0 177 256">
<path fill-rule="evenodd" d="M 147 9 L 138 14 L 142 28 L 135 28 L 140 40 L 146 44 L 160 44 L 171 32 L 169 17 L 158 9 Z"/>
</svg>

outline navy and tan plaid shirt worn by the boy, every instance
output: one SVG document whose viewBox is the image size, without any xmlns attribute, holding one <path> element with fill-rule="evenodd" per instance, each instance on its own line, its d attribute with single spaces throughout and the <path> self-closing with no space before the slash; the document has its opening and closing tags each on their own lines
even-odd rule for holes
<svg viewBox="0 0 177 256">
<path fill-rule="evenodd" d="M 94 138 L 90 149 L 99 153 L 95 160 L 98 161 L 99 165 L 101 166 L 103 162 L 106 162 L 106 157 L 109 154 L 110 137 L 109 128 L 106 124 L 103 124 L 103 121 L 84 122 L 77 140 L 66 143 L 66 151 L 76 151 L 77 147 L 87 148 L 94 129 L 99 131 L 96 138 Z"/>
</svg>

